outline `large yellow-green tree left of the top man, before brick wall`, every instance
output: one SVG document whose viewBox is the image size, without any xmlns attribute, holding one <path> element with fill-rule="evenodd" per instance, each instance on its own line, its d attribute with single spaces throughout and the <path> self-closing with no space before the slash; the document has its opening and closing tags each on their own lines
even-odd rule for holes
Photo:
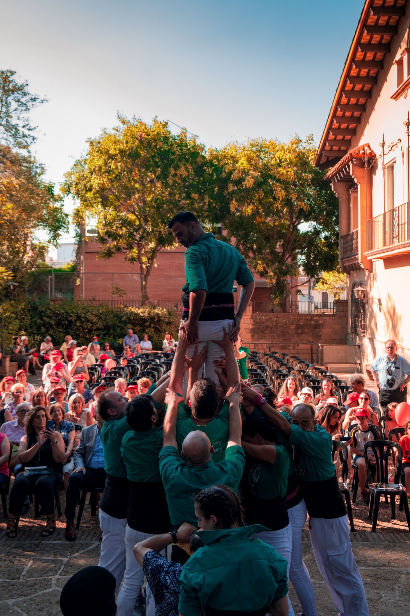
<svg viewBox="0 0 410 616">
<path fill-rule="evenodd" d="M 205 148 L 166 122 L 146 124 L 118 116 L 119 126 L 90 140 L 89 150 L 66 174 L 65 192 L 79 200 L 74 222 L 97 218 L 99 256 L 125 253 L 138 262 L 141 298 L 161 248 L 174 245 L 168 220 L 179 210 L 207 216 L 219 198 L 218 165 Z"/>
</svg>

